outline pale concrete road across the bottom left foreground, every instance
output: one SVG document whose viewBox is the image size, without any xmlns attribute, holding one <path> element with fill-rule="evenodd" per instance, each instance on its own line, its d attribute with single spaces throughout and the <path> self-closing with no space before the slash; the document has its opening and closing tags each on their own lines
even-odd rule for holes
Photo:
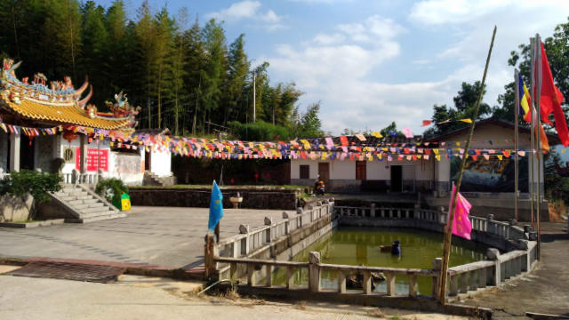
<svg viewBox="0 0 569 320">
<path fill-rule="evenodd" d="M 0 276 L 0 319 L 467 319 L 389 308 L 241 299 L 232 292 L 225 298 L 197 297 L 198 287 L 136 276 L 122 277 L 117 284 Z"/>
</svg>

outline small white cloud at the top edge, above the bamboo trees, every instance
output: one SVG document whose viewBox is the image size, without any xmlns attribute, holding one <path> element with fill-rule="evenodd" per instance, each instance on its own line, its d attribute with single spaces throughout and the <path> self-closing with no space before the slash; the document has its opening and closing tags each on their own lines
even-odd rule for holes
<svg viewBox="0 0 569 320">
<path fill-rule="evenodd" d="M 245 0 L 229 5 L 226 9 L 221 9 L 219 12 L 210 12 L 205 15 L 207 19 L 225 20 L 227 22 L 236 22 L 238 20 L 257 20 L 265 22 L 265 26 L 269 30 L 276 28 L 284 28 L 280 21 L 282 18 L 272 10 L 262 12 L 260 10 L 261 4 L 259 1 Z"/>
</svg>

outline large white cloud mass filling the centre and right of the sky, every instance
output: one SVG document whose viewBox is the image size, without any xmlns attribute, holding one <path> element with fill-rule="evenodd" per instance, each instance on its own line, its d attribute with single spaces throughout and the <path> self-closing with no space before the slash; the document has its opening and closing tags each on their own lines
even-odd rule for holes
<svg viewBox="0 0 569 320">
<path fill-rule="evenodd" d="M 307 92 L 303 105 L 322 101 L 320 116 L 327 131 L 381 129 L 396 121 L 400 128 L 421 133 L 421 120 L 432 116 L 434 104 L 452 106 L 462 82 L 482 78 L 494 24 L 498 32 L 485 95 L 490 105 L 513 79 L 509 52 L 528 43 L 536 32 L 551 36 L 557 24 L 567 21 L 566 12 L 569 1 L 425 0 L 413 4 L 405 28 L 398 20 L 373 15 L 342 23 L 332 32 L 315 33 L 301 45 L 281 44 L 276 55 L 261 60 L 270 62 L 276 78 L 294 81 Z M 437 37 L 437 45 L 417 48 L 417 29 L 421 36 Z M 400 41 L 402 36 L 408 38 Z M 384 71 L 397 72 L 389 63 L 405 63 L 394 62 L 401 52 L 409 61 L 407 73 L 414 69 L 425 79 L 426 70 L 436 69 L 436 76 L 424 81 L 409 76 L 397 84 L 378 81 Z"/>
</svg>

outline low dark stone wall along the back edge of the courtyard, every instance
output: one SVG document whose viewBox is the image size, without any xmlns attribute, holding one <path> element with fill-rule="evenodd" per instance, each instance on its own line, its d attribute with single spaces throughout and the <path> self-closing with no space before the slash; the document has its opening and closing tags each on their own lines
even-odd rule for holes
<svg viewBox="0 0 569 320">
<path fill-rule="evenodd" d="M 241 208 L 294 210 L 300 190 L 281 188 L 221 188 L 223 207 L 233 208 L 229 197 L 243 196 Z M 208 208 L 210 188 L 130 188 L 132 205 Z"/>
</svg>

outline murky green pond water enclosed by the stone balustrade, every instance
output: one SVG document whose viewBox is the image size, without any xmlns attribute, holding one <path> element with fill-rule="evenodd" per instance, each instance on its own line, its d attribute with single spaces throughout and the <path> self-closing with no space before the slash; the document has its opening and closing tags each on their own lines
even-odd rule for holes
<svg viewBox="0 0 569 320">
<path fill-rule="evenodd" d="M 407 228 L 338 228 L 315 244 L 297 254 L 293 260 L 308 262 L 309 252 L 320 252 L 323 263 L 359 265 L 390 268 L 430 269 L 433 260 L 443 254 L 443 234 Z M 390 245 L 394 240 L 401 243 L 401 256 L 380 252 L 380 245 Z M 453 238 L 450 267 L 485 259 L 485 246 L 468 240 Z M 284 284 L 286 270 L 277 269 L 273 274 L 275 284 Z M 325 289 L 337 289 L 337 275 L 325 271 L 321 275 Z M 308 284 L 308 270 L 301 269 L 294 275 L 294 283 Z M 420 294 L 429 295 L 432 277 L 418 277 Z M 409 290 L 406 276 L 397 276 L 396 293 Z M 375 292 L 386 292 L 384 283 L 375 287 Z"/>
</svg>

